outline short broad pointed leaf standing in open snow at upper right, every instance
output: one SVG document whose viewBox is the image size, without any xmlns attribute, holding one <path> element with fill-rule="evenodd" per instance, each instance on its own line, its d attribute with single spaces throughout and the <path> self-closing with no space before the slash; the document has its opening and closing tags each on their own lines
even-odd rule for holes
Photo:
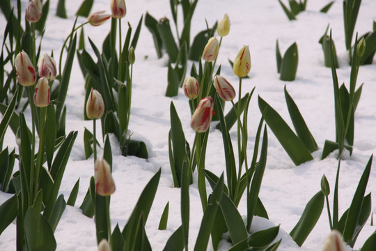
<svg viewBox="0 0 376 251">
<path fill-rule="evenodd" d="M 297 75 L 298 57 L 297 43 L 293 43 L 283 55 L 281 62 L 281 75 L 279 76 L 279 79 L 283 81 L 295 80 L 295 76 Z"/>
</svg>

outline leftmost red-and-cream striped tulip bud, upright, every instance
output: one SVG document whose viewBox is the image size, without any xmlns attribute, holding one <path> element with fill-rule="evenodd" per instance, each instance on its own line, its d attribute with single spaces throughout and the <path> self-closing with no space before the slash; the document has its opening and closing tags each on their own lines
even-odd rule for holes
<svg viewBox="0 0 376 251">
<path fill-rule="evenodd" d="M 26 52 L 22 51 L 15 58 L 16 75 L 19 84 L 32 86 L 36 83 L 36 70 Z"/>
</svg>

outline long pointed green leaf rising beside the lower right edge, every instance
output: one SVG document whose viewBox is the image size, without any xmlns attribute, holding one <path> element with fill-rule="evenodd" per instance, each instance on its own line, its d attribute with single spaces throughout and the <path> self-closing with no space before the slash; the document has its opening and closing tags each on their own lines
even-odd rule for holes
<svg viewBox="0 0 376 251">
<path fill-rule="evenodd" d="M 359 217 L 361 216 L 363 197 L 364 197 L 364 193 L 366 192 L 368 178 L 370 176 L 372 160 L 373 160 L 373 155 L 371 155 L 370 160 L 368 160 L 368 164 L 366 165 L 366 168 L 364 169 L 364 172 L 358 183 L 357 190 L 354 194 L 354 198 L 352 199 L 352 202 L 349 208 L 349 213 L 347 214 L 346 225 L 345 225 L 345 228 L 343 229 L 343 240 L 346 242 L 350 241 L 352 239 L 352 236 L 354 236 L 354 231 L 357 228 L 357 222 L 359 221 Z"/>
</svg>

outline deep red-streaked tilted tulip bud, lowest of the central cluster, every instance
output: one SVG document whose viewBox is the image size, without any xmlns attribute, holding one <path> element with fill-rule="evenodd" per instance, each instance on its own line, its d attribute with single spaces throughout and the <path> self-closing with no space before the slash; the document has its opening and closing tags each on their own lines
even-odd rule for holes
<svg viewBox="0 0 376 251">
<path fill-rule="evenodd" d="M 196 132 L 205 132 L 214 115 L 213 100 L 210 97 L 203 98 L 198 103 L 191 118 L 191 128 Z"/>
</svg>

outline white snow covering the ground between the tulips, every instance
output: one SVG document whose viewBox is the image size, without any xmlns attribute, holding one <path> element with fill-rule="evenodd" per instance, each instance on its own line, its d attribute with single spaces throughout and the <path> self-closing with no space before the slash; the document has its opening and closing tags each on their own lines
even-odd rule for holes
<svg viewBox="0 0 376 251">
<path fill-rule="evenodd" d="M 54 15 L 56 13 L 57 0 L 50 1 L 49 17 L 45 36 L 42 40 L 42 52 L 54 50 L 55 58 L 60 52 L 63 40 L 70 33 L 75 20 L 75 12 L 81 1 L 66 0 L 68 19 L 62 20 Z M 287 2 L 287 1 L 285 1 Z M 11 0 L 15 5 L 16 1 Z M 334 94 L 331 81 L 330 68 L 324 67 L 324 57 L 319 38 L 324 34 L 328 24 L 332 29 L 334 42 L 338 54 L 340 68 L 337 70 L 338 81 L 345 82 L 348 86 L 350 79 L 350 66 L 347 64 L 347 52 L 343 31 L 342 1 L 336 1 L 329 13 L 320 13 L 319 10 L 329 1 L 308 1 L 307 10 L 297 15 L 297 20 L 290 22 L 283 13 L 278 1 L 225 1 L 225 0 L 201 0 L 198 1 L 196 11 L 191 24 L 191 38 L 198 31 L 205 29 L 205 20 L 211 26 L 216 20 L 221 20 L 224 13 L 230 17 L 230 33 L 222 41 L 217 65 L 222 64 L 221 75 L 230 81 L 238 91 L 238 79 L 228 64 L 228 59 L 235 56 L 243 45 L 249 45 L 251 51 L 250 79 L 244 79 L 242 94 L 251 91 L 256 86 L 249 108 L 249 143 L 247 151 L 253 152 L 253 142 L 260 121 L 260 111 L 257 105 L 257 97 L 262 97 L 269 103 L 285 121 L 290 122 L 288 109 L 283 95 L 284 86 L 297 103 L 301 114 L 304 116 L 308 128 L 318 142 L 319 150 L 313 153 L 314 160 L 297 167 L 283 150 L 276 137 L 268 128 L 269 146 L 267 153 L 267 167 L 260 189 L 260 199 L 263 201 L 269 220 L 256 217 L 253 220 L 253 229 L 267 229 L 280 225 L 279 238 L 283 241 L 279 247 L 281 251 L 295 250 L 321 250 L 324 239 L 329 234 L 329 222 L 326 205 L 318 224 L 306 239 L 304 245 L 299 248 L 288 235 L 299 220 L 306 203 L 320 190 L 320 180 L 323 174 L 327 176 L 331 190 L 337 170 L 338 152 L 331 153 L 326 159 L 320 160 L 325 139 L 335 140 L 334 122 Z M 26 0 L 22 0 L 22 6 L 26 10 Z M 107 10 L 110 12 L 109 1 L 96 0 L 93 11 Z M 372 29 L 372 21 L 376 20 L 376 2 L 363 0 L 359 11 L 355 31 L 359 35 Z M 123 19 L 123 28 L 130 22 L 135 28 L 141 15 L 146 11 L 155 18 L 169 17 L 171 11 L 169 1 L 166 0 L 140 0 L 127 1 L 127 15 Z M 181 13 L 179 13 L 181 17 Z M 179 17 L 178 17 L 179 18 Z M 78 23 L 85 22 L 79 18 Z M 0 30 L 3 31 L 6 21 L 0 15 Z M 171 25 L 173 22 L 171 21 Z M 102 47 L 104 34 L 110 29 L 110 22 L 99 26 L 85 26 L 85 34 L 90 37 L 97 47 Z M 180 24 L 180 31 L 182 24 Z M 0 32 L 3 39 L 3 32 Z M 125 31 L 124 31 L 125 33 Z M 123 35 L 124 37 L 125 35 Z M 279 80 L 276 73 L 275 46 L 279 40 L 281 53 L 296 42 L 299 50 L 299 65 L 297 78 L 293 82 Z M 92 53 L 88 40 L 86 49 Z M 65 56 L 64 56 L 65 57 Z M 56 60 L 57 62 L 58 60 Z M 185 136 L 189 144 L 193 144 L 194 131 L 189 126 L 190 112 L 187 98 L 182 89 L 174 98 L 164 96 L 167 86 L 168 58 L 157 59 L 152 36 L 146 26 L 141 29 L 139 43 L 136 47 L 136 63 L 134 64 L 134 85 L 132 93 L 132 114 L 130 117 L 130 130 L 134 139 L 146 142 L 150 158 L 148 160 L 128 156 L 123 157 L 118 149 L 116 137 L 110 135 L 113 152 L 113 178 L 116 183 L 116 192 L 111 196 L 111 226 L 119 224 L 120 229 L 127 222 L 134 205 L 144 186 L 150 178 L 162 168 L 162 176 L 159 181 L 157 195 L 150 211 L 146 224 L 146 233 L 153 250 L 162 250 L 167 239 L 180 224 L 180 189 L 173 188 L 173 181 L 169 166 L 168 132 L 170 128 L 169 106 L 174 103 Z M 190 69 L 191 62 L 189 62 Z M 189 72 L 189 71 L 187 71 Z M 370 155 L 376 150 L 376 63 L 361 66 L 357 86 L 364 83 L 361 100 L 355 114 L 354 151 L 350 156 L 345 152 L 341 162 L 339 180 L 339 213 L 350 206 L 359 178 Z M 88 183 L 94 175 L 93 156 L 85 160 L 84 155 L 84 128 L 92 130 L 91 121 L 84 121 L 84 77 L 75 59 L 70 77 L 68 96 L 65 101 L 67 106 L 66 132 L 77 130 L 79 132 L 75 145 L 70 155 L 70 160 L 61 184 L 61 193 L 68 199 L 75 182 L 80 178 L 79 195 L 75 207 L 67 206 L 63 217 L 58 224 L 55 238 L 58 250 L 96 250 L 95 223 L 93 219 L 81 214 L 79 205 L 84 199 Z M 230 103 L 226 104 L 226 112 L 230 109 Z M 26 109 L 26 119 L 30 119 L 29 109 Z M 216 123 L 212 123 L 210 137 L 207 144 L 206 169 L 220 175 L 225 171 L 224 148 L 219 130 L 215 129 Z M 97 123 L 100 127 L 100 123 Z M 100 130 L 98 130 L 98 136 Z M 233 146 L 236 150 L 236 127 L 230 131 L 233 138 Z M 102 142 L 100 141 L 100 144 Z M 4 140 L 4 146 L 16 147 L 13 132 L 8 130 Z M 98 156 L 102 155 L 99 150 Z M 370 179 L 366 194 L 372 192 L 372 199 L 376 201 L 376 172 L 371 169 Z M 226 181 L 225 181 L 226 182 Z M 210 185 L 207 184 L 210 192 Z M 0 192 L 0 204 L 11 195 Z M 194 184 L 189 187 L 190 196 L 190 222 L 189 222 L 189 250 L 193 250 L 198 229 L 201 225 L 202 209 L 198 195 L 197 174 L 194 174 Z M 246 195 L 240 202 L 239 211 L 246 215 Z M 167 229 L 158 230 L 160 216 L 167 201 L 169 201 L 169 222 Z M 329 195 L 329 203 L 332 204 L 332 193 Z M 373 204 L 372 212 L 376 212 Z M 0 236 L 0 250 L 15 250 L 16 235 L 15 222 L 11 224 Z M 370 219 L 359 234 L 354 250 L 359 250 L 368 236 L 375 231 L 370 226 Z M 227 250 L 230 244 L 222 241 L 220 250 Z M 211 244 L 208 250 L 212 250 Z M 352 250 L 347 247 L 347 250 Z"/>
</svg>

